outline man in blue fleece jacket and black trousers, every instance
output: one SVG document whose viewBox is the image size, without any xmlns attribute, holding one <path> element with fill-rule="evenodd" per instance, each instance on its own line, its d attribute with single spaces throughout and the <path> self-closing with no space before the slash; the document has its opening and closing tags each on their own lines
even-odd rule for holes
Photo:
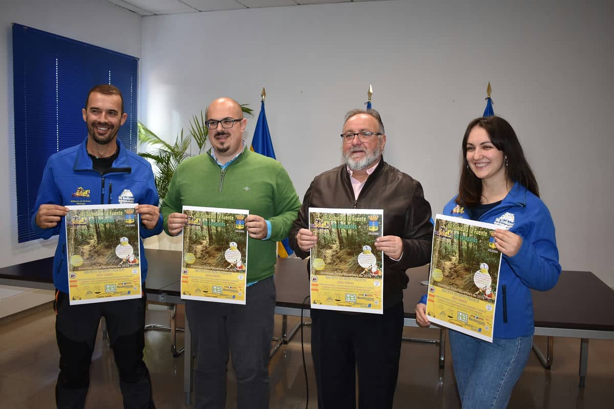
<svg viewBox="0 0 614 409">
<path fill-rule="evenodd" d="M 128 115 L 120 90 L 98 85 L 88 93 L 83 119 L 84 142 L 52 155 L 45 166 L 32 215 L 42 239 L 59 234 L 53 258 L 55 332 L 60 349 L 60 374 L 55 388 L 58 408 L 83 408 L 90 384 L 91 354 L 100 318 L 106 319 L 125 408 L 153 408 L 149 371 L 143 362 L 145 303 L 140 299 L 70 305 L 66 263 L 66 205 L 134 203 L 141 237 L 162 231 L 158 192 L 150 164 L 126 150 L 117 132 Z M 100 196 L 98 196 L 100 192 Z M 142 240 L 141 279 L 147 276 Z"/>
</svg>

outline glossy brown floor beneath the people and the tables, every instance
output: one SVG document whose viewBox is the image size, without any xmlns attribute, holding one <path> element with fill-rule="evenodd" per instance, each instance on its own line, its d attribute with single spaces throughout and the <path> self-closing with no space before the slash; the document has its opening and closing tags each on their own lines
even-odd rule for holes
<svg viewBox="0 0 614 409">
<path fill-rule="evenodd" d="M 158 313 L 159 315 L 159 313 Z M 153 313 L 152 313 L 153 316 Z M 0 407 L 53 408 L 58 350 L 50 308 L 17 319 L 0 321 Z M 281 319 L 276 318 L 279 328 Z M 290 317 L 290 323 L 298 318 Z M 405 336 L 437 338 L 437 331 L 406 328 Z M 537 337 L 544 345 L 544 340 Z M 180 335 L 179 343 L 183 340 Z M 532 354 L 511 397 L 510 408 L 610 408 L 614 402 L 614 342 L 591 340 L 586 388 L 578 389 L 580 340 L 557 338 L 552 370 L 543 369 Z M 309 377 L 309 408 L 315 402 L 313 367 L 309 354 L 309 328 L 305 329 L 305 353 Z M 451 359 L 438 369 L 437 347 L 403 343 L 401 369 L 394 408 L 458 408 Z M 152 375 L 158 408 L 190 408 L 184 405 L 183 356 L 173 358 L 168 332 L 146 334 L 146 362 Z M 449 358 L 449 351 L 446 354 Z M 305 408 L 306 391 L 300 334 L 282 346 L 271 359 L 271 408 Z M 376 376 L 376 375 L 374 375 Z M 227 408 L 234 408 L 234 386 L 228 372 Z M 112 354 L 99 334 L 91 368 L 87 408 L 121 408 L 117 370 Z"/>
</svg>

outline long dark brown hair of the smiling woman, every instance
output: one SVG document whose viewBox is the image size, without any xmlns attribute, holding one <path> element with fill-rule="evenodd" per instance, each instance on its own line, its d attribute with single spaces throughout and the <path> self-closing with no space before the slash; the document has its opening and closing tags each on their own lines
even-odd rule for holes
<svg viewBox="0 0 614 409">
<path fill-rule="evenodd" d="M 502 151 L 503 156 L 507 158 L 505 177 L 512 182 L 520 183 L 539 197 L 537 180 L 535 180 L 529 162 L 524 158 L 523 147 L 520 146 L 516 132 L 511 128 L 508 121 L 493 116 L 475 118 L 467 126 L 467 131 L 465 131 L 465 136 L 462 139 L 461 182 L 459 183 L 459 196 L 456 198 L 456 203 L 464 207 L 475 207 L 480 204 L 482 181 L 473 174 L 467 163 L 467 139 L 469 132 L 476 126 L 480 126 L 488 133 L 492 144 Z"/>
</svg>

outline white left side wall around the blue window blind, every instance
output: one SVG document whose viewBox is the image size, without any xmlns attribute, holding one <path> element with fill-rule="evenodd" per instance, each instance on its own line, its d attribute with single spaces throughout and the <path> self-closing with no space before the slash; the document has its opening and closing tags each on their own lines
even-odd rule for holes
<svg viewBox="0 0 614 409">
<path fill-rule="evenodd" d="M 17 243 L 11 23 L 141 56 L 141 17 L 101 0 L 0 2 L 0 267 L 53 254 L 57 238 Z M 85 97 L 85 96 L 84 96 Z M 75 112 L 74 115 L 81 115 Z M 84 135 L 85 137 L 85 135 Z"/>
</svg>

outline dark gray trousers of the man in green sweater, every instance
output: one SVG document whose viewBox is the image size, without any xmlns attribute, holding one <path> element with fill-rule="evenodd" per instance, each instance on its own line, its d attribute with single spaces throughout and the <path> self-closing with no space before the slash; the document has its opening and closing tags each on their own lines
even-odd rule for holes
<svg viewBox="0 0 614 409">
<path fill-rule="evenodd" d="M 229 353 L 237 380 L 237 409 L 265 409 L 269 401 L 268 360 L 273 337 L 273 277 L 247 288 L 246 305 L 185 301 L 196 354 L 195 408 L 223 409 Z"/>
</svg>

